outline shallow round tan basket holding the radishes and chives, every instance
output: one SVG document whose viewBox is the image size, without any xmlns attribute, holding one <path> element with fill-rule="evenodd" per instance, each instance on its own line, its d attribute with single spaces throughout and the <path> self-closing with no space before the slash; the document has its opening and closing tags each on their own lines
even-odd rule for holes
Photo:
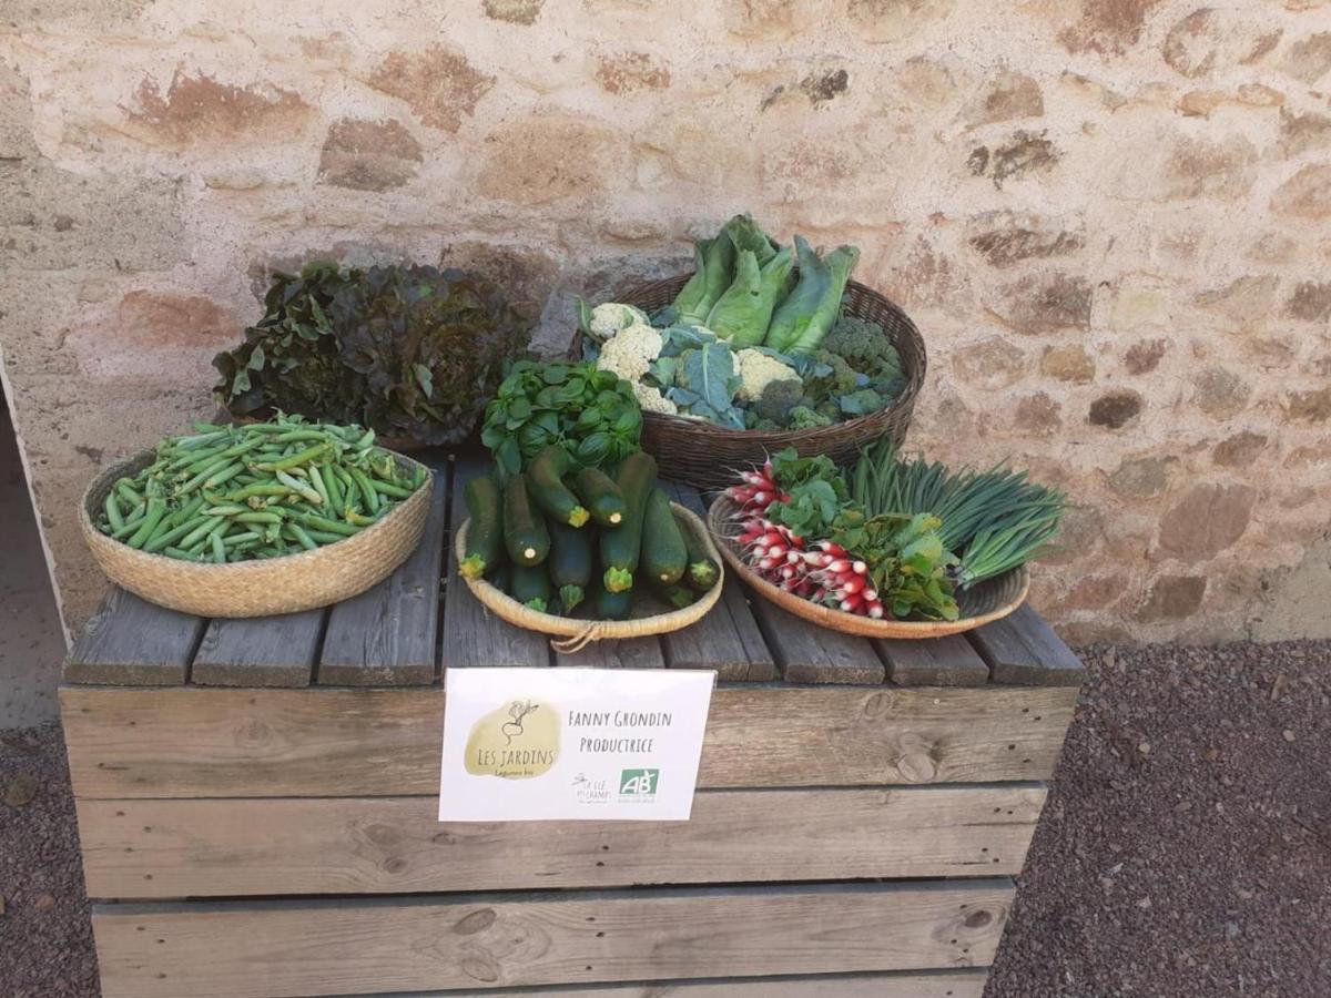
<svg viewBox="0 0 1331 998">
<path fill-rule="evenodd" d="M 749 588 L 781 609 L 788 609 L 796 616 L 831 631 L 860 635 L 861 637 L 902 639 L 960 635 L 1012 613 L 1025 601 L 1026 589 L 1030 587 L 1030 574 L 1025 566 L 1004 572 L 994 579 L 986 579 L 957 595 L 957 604 L 961 609 L 961 616 L 957 620 L 872 620 L 856 613 L 845 613 L 787 592 L 744 564 L 739 544 L 735 543 L 735 536 L 739 534 L 739 520 L 735 516 L 737 512 L 739 507 L 723 496 L 712 503 L 712 508 L 707 514 L 707 527 L 712 539 L 735 574 Z"/>
</svg>

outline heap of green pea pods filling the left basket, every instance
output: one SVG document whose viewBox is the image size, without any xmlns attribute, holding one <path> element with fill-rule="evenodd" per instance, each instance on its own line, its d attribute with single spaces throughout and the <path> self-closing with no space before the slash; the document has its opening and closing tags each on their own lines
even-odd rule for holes
<svg viewBox="0 0 1331 998">
<path fill-rule="evenodd" d="M 385 516 L 425 483 L 358 426 L 196 423 L 106 494 L 97 528 L 132 548 L 186 562 L 313 551 Z"/>
</svg>

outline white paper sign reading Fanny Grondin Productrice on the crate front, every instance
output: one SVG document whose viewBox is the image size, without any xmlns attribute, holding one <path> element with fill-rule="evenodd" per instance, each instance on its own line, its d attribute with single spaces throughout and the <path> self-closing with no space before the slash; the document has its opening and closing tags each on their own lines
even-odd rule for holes
<svg viewBox="0 0 1331 998">
<path fill-rule="evenodd" d="M 449 669 L 439 821 L 687 821 L 715 680 Z"/>
</svg>

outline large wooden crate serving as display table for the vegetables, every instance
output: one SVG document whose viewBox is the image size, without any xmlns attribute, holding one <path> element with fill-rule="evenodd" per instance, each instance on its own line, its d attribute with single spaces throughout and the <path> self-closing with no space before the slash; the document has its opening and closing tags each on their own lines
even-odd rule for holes
<svg viewBox="0 0 1331 998">
<path fill-rule="evenodd" d="M 1040 617 L 866 641 L 728 583 L 689 631 L 555 656 L 439 584 L 467 474 L 361 597 L 206 621 L 113 592 L 80 637 L 106 998 L 977 998 L 1082 677 Z M 435 820 L 442 669 L 560 664 L 719 671 L 691 821 Z"/>
</svg>

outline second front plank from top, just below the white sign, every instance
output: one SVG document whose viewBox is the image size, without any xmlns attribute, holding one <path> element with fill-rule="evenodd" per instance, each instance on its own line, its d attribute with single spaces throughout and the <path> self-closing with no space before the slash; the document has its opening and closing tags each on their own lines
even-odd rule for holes
<svg viewBox="0 0 1331 998">
<path fill-rule="evenodd" d="M 701 790 L 679 822 L 439 824 L 435 797 L 80 800 L 79 829 L 88 894 L 121 900 L 993 877 L 1021 873 L 1044 801 Z"/>
</svg>

